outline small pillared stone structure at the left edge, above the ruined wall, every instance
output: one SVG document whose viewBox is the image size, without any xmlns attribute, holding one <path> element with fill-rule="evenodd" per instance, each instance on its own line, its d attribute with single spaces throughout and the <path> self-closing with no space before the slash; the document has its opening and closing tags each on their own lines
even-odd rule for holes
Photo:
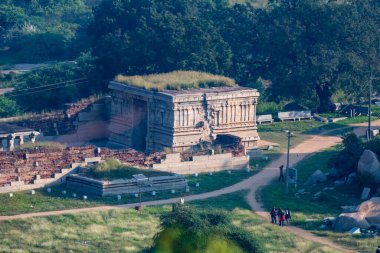
<svg viewBox="0 0 380 253">
<path fill-rule="evenodd" d="M 8 151 L 13 151 L 16 140 L 20 146 L 24 145 L 25 137 L 34 143 L 39 132 L 26 127 L 0 123 L 0 150 L 4 148 L 3 140 L 6 140 L 6 148 Z"/>
</svg>

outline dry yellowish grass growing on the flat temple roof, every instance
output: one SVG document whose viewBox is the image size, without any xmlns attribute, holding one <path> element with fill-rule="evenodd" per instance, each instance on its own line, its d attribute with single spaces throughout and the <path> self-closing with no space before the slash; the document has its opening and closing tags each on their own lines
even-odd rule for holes
<svg viewBox="0 0 380 253">
<path fill-rule="evenodd" d="M 231 78 L 197 71 L 172 71 L 145 76 L 118 75 L 115 81 L 147 90 L 183 90 L 218 86 L 235 86 Z"/>
</svg>

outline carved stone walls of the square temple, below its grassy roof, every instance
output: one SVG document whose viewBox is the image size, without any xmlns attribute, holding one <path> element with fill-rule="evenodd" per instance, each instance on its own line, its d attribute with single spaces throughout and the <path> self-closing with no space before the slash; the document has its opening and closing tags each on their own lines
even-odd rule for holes
<svg viewBox="0 0 380 253">
<path fill-rule="evenodd" d="M 147 133 L 137 138 L 145 139 L 147 152 L 165 147 L 181 152 L 218 134 L 236 135 L 246 148 L 255 148 L 259 140 L 256 90 L 153 92 L 117 82 L 110 82 L 109 88 L 113 90 L 109 141 L 122 147 L 136 148 L 133 129 L 141 120 Z M 146 119 L 136 120 L 136 101 L 146 101 Z"/>
</svg>

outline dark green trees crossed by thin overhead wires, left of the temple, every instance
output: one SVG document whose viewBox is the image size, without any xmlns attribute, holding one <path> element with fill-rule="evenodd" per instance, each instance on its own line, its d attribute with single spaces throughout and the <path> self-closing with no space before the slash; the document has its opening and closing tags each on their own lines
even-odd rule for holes
<svg viewBox="0 0 380 253">
<path fill-rule="evenodd" d="M 86 80 L 92 70 L 91 58 L 83 54 L 76 62 L 40 68 L 25 74 L 15 90 L 6 96 L 25 111 L 51 110 L 96 92 Z"/>
</svg>

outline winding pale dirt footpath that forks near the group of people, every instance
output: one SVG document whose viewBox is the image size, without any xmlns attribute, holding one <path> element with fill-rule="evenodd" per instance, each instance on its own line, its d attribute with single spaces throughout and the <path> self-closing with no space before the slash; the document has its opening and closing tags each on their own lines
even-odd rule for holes
<svg viewBox="0 0 380 253">
<path fill-rule="evenodd" d="M 351 125 L 354 126 L 354 132 L 362 136 L 366 132 L 366 124 L 354 124 Z M 380 126 L 380 120 L 372 122 L 372 126 Z M 333 131 L 333 130 L 331 130 Z M 330 132 L 330 131 L 329 131 Z M 311 155 L 315 152 L 324 150 L 326 148 L 332 147 L 338 143 L 340 143 L 342 139 L 337 136 L 328 136 L 328 132 L 324 132 L 322 135 L 312 135 L 311 138 L 307 139 L 306 141 L 300 143 L 296 147 L 292 148 L 290 150 L 291 158 L 290 158 L 290 166 L 296 165 L 299 161 L 304 159 L 306 156 Z M 269 214 L 264 210 L 262 207 L 262 204 L 256 199 L 256 193 L 257 191 L 268 185 L 272 180 L 278 177 L 278 167 L 281 164 L 286 164 L 286 154 L 282 154 L 278 159 L 270 163 L 267 167 L 265 167 L 263 170 L 261 170 L 259 173 L 255 174 L 254 176 L 247 178 L 237 184 L 228 186 L 226 188 L 212 191 L 212 192 L 206 192 L 202 194 L 196 194 L 196 195 L 189 195 L 184 197 L 186 201 L 193 201 L 193 200 L 202 200 L 202 199 L 208 199 L 213 197 L 218 197 L 220 195 L 233 193 L 240 190 L 249 189 L 249 192 L 246 196 L 246 200 L 252 210 L 259 214 L 261 217 L 269 219 Z M 143 202 L 144 206 L 155 206 L 155 205 L 164 205 L 164 204 L 172 204 L 172 203 L 178 203 L 180 201 L 181 197 L 177 198 L 171 198 L 171 199 L 163 199 L 163 200 L 154 200 L 154 201 L 147 201 Z M 76 213 L 83 213 L 83 212 L 94 212 L 94 211 L 106 211 L 111 209 L 120 209 L 120 208 L 133 208 L 136 206 L 137 203 L 131 203 L 131 204 L 124 204 L 124 205 L 109 205 L 109 206 L 97 206 L 97 207 L 90 207 L 90 208 L 79 208 L 79 209 L 67 209 L 67 210 L 59 210 L 59 211 L 49 211 L 49 212 L 35 212 L 35 213 L 25 213 L 25 214 L 18 214 L 18 215 L 12 215 L 12 216 L 0 216 L 1 220 L 15 220 L 15 219 L 23 219 L 23 218 L 32 218 L 32 217 L 44 217 L 44 216 L 50 216 L 50 215 L 62 215 L 62 214 L 76 214 Z M 295 234 L 299 237 L 305 238 L 307 240 L 317 242 L 323 245 L 326 245 L 328 247 L 331 247 L 338 252 L 347 252 L 347 253 L 353 253 L 354 251 L 348 250 L 346 248 L 343 248 L 342 246 L 339 246 L 332 241 L 316 236 L 308 231 L 305 231 L 303 229 L 288 226 L 284 227 L 284 230 Z"/>
</svg>

